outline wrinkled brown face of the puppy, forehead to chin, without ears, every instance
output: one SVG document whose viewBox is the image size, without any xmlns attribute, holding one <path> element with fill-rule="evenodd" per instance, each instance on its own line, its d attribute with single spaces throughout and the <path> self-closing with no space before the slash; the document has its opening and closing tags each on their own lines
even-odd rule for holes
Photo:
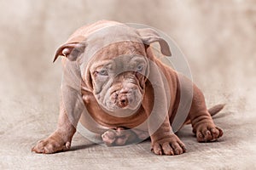
<svg viewBox="0 0 256 170">
<path fill-rule="evenodd" d="M 143 44 L 117 42 L 102 48 L 90 65 L 93 94 L 103 109 L 135 111 L 141 105 L 148 74 Z"/>
</svg>

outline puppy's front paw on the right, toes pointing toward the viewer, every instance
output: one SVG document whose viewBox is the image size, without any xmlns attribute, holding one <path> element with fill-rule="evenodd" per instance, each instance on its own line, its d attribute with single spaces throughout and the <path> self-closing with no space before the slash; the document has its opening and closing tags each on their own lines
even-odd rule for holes
<svg viewBox="0 0 256 170">
<path fill-rule="evenodd" d="M 156 155 L 174 156 L 183 154 L 186 147 L 175 134 L 171 134 L 166 138 L 152 141 L 151 151 Z"/>
</svg>

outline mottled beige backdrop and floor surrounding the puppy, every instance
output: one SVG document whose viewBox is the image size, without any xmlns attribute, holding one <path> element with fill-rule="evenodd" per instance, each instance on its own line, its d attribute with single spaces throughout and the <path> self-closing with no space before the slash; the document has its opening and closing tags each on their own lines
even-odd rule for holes
<svg viewBox="0 0 256 170">
<path fill-rule="evenodd" d="M 74 3 L 75 2 L 75 3 Z M 1 1 L 0 169 L 253 169 L 256 167 L 256 6 L 253 1 Z M 157 3 L 156 3 L 157 2 Z M 187 56 L 207 105 L 226 103 L 215 122 L 218 142 L 197 143 L 190 126 L 178 136 L 181 156 L 154 156 L 150 142 L 90 144 L 79 133 L 72 149 L 30 150 L 55 130 L 61 62 L 55 49 L 76 28 L 96 20 L 154 26 Z"/>
</svg>

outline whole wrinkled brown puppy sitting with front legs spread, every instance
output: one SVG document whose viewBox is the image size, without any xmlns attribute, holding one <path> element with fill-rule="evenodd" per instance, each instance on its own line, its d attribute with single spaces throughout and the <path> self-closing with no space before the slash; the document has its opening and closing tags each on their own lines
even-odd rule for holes
<svg viewBox="0 0 256 170">
<path fill-rule="evenodd" d="M 157 59 L 152 42 L 159 42 L 161 54 L 171 55 L 168 43 L 152 29 L 99 21 L 75 31 L 55 54 L 55 59 L 65 56 L 58 127 L 32 151 L 68 150 L 79 122 L 108 145 L 150 136 L 157 155 L 185 152 L 173 133 L 176 117 L 182 124 L 191 122 L 199 142 L 221 137 L 211 114 L 223 105 L 207 111 L 200 89 Z"/>
</svg>

